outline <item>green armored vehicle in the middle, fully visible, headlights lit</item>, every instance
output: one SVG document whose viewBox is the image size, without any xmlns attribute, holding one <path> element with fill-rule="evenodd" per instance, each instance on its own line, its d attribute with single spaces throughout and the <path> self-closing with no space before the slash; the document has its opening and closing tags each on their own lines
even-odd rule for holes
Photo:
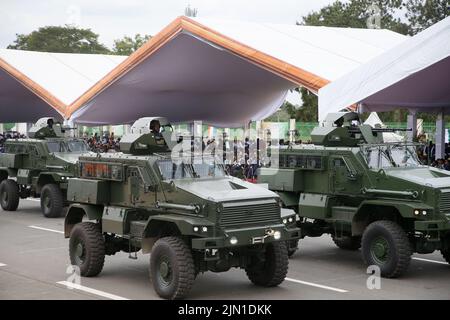
<svg viewBox="0 0 450 320">
<path fill-rule="evenodd" d="M 280 284 L 286 241 L 300 236 L 281 215 L 295 212 L 282 209 L 275 193 L 227 176 L 213 159 L 180 157 L 171 131 L 164 118 L 143 118 L 122 138 L 121 153 L 80 157 L 80 177 L 69 179 L 67 192 L 72 265 L 90 277 L 105 255 L 151 252 L 150 278 L 167 299 L 185 297 L 200 272 L 232 267 L 256 285 Z"/>
</svg>

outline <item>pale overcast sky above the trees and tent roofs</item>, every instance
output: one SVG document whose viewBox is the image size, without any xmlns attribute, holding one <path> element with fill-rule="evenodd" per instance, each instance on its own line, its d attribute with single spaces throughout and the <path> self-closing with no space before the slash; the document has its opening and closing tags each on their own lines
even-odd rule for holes
<svg viewBox="0 0 450 320">
<path fill-rule="evenodd" d="M 100 35 L 112 47 L 114 39 L 136 33 L 154 35 L 187 5 L 198 17 L 295 24 L 302 16 L 334 0 L 0 0 L 0 48 L 39 27 L 76 25 Z"/>
</svg>

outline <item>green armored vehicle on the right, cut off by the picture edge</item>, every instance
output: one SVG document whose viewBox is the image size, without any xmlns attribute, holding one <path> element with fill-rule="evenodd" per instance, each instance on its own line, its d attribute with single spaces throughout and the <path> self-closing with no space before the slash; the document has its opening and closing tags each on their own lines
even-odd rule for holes
<svg viewBox="0 0 450 320">
<path fill-rule="evenodd" d="M 384 277 L 398 277 L 411 254 L 440 250 L 450 263 L 450 172 L 421 165 L 413 143 L 383 142 L 392 129 L 360 124 L 355 113 L 327 117 L 311 145 L 282 147 L 279 169 L 263 168 L 302 237 L 331 234 Z"/>
</svg>

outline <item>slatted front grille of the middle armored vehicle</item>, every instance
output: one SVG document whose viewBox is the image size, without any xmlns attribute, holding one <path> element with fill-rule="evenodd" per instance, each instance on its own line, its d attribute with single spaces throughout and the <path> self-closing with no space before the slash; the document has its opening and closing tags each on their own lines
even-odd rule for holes
<svg viewBox="0 0 450 320">
<path fill-rule="evenodd" d="M 235 228 L 280 223 L 280 206 L 275 200 L 231 202 L 223 204 L 220 226 Z"/>
</svg>

